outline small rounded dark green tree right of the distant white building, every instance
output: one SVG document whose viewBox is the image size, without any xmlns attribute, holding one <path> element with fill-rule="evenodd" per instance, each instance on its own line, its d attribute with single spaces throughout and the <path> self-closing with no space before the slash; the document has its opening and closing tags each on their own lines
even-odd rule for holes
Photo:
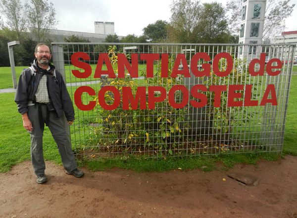
<svg viewBox="0 0 297 218">
<path fill-rule="evenodd" d="M 167 26 L 168 23 L 165 20 L 150 23 L 143 29 L 144 36 L 150 42 L 164 42 L 167 39 Z"/>
</svg>

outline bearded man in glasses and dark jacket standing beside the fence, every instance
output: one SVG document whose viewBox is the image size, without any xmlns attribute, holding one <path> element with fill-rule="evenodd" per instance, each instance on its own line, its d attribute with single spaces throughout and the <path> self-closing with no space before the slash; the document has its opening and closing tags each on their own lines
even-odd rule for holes
<svg viewBox="0 0 297 218">
<path fill-rule="evenodd" d="M 74 121 L 74 109 L 62 75 L 49 63 L 49 46 L 37 44 L 35 60 L 19 78 L 15 102 L 22 115 L 23 126 L 31 137 L 31 159 L 38 183 L 48 181 L 43 157 L 43 132 L 45 124 L 55 140 L 65 172 L 82 177 L 84 172 L 76 165 L 71 149 L 68 125 Z M 66 123 L 65 117 L 68 124 Z"/>
</svg>

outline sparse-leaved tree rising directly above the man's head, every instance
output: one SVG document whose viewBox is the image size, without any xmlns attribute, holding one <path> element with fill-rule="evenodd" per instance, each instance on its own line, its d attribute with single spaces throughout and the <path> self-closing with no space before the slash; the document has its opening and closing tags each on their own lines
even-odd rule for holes
<svg viewBox="0 0 297 218">
<path fill-rule="evenodd" d="M 45 41 L 49 29 L 57 24 L 53 3 L 48 0 L 30 0 L 28 7 L 28 22 L 31 32 L 34 33 L 38 42 Z"/>
</svg>

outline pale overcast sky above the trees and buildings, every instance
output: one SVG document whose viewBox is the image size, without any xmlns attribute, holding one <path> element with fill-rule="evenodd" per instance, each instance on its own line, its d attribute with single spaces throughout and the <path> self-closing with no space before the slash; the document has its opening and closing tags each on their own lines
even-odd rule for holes
<svg viewBox="0 0 297 218">
<path fill-rule="evenodd" d="M 211 0 L 200 0 L 210 2 Z M 226 4 L 227 0 L 212 0 Z M 57 29 L 95 32 L 94 21 L 114 22 L 115 33 L 142 35 L 156 20 L 170 20 L 172 0 L 51 0 L 59 21 Z M 297 0 L 291 0 L 297 4 Z M 286 20 L 285 31 L 297 30 L 297 6 Z"/>
</svg>

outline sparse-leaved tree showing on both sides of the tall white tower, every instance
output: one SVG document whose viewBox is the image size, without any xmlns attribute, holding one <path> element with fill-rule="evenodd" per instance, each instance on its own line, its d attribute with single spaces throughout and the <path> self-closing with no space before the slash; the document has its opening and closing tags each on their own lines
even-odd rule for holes
<svg viewBox="0 0 297 218">
<path fill-rule="evenodd" d="M 291 16 L 295 4 L 290 5 L 291 0 L 267 0 L 265 9 L 265 20 L 263 27 L 263 41 L 269 42 L 269 38 L 280 34 L 285 28 L 284 21 Z M 232 31 L 239 32 L 241 22 L 242 0 L 230 0 L 227 2 L 227 10 L 231 16 L 229 23 Z"/>
</svg>

